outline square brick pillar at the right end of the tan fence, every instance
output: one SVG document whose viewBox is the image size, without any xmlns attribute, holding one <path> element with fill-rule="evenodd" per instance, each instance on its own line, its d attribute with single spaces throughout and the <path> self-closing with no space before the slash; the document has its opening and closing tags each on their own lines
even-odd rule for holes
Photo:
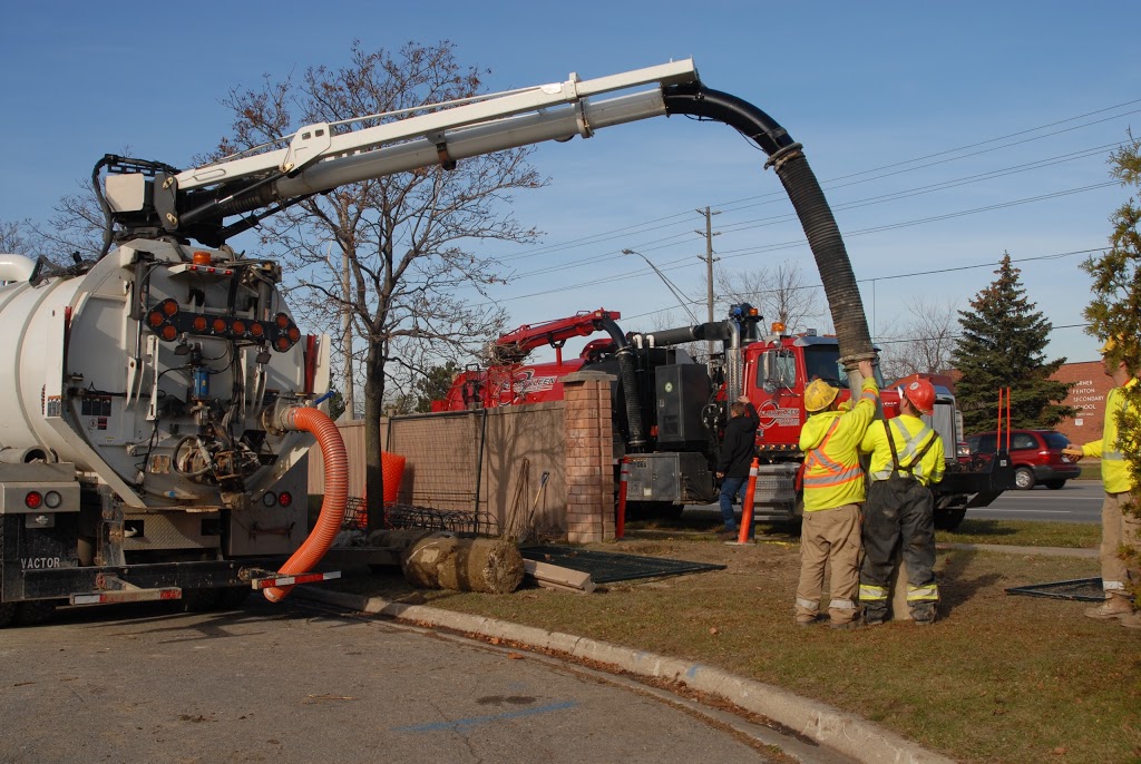
<svg viewBox="0 0 1141 764">
<path fill-rule="evenodd" d="M 614 442 L 610 385 L 615 377 L 578 372 L 563 377 L 566 436 L 567 541 L 614 538 Z"/>
</svg>

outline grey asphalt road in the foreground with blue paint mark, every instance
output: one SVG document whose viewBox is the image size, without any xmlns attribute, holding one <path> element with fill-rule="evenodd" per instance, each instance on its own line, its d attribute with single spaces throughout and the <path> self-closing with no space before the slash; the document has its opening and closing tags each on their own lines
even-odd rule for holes
<svg viewBox="0 0 1141 764">
<path fill-rule="evenodd" d="M 0 631 L 0 688 L 11 764 L 769 762 L 774 734 L 574 665 L 292 599 L 60 610 Z"/>
</svg>

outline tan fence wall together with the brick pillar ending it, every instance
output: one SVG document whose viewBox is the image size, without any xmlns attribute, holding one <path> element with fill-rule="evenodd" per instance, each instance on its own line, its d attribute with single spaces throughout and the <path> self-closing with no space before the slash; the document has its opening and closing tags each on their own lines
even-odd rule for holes
<svg viewBox="0 0 1141 764">
<path fill-rule="evenodd" d="M 536 529 L 565 533 L 574 543 L 614 538 L 613 381 L 609 374 L 582 372 L 565 377 L 559 401 L 381 420 L 381 447 L 406 460 L 398 501 L 478 507 L 500 528 L 518 504 L 516 527 L 529 518 Z M 363 422 L 338 428 L 349 457 L 349 495 L 362 496 Z M 308 461 L 309 493 L 319 495 L 319 449 Z"/>
</svg>

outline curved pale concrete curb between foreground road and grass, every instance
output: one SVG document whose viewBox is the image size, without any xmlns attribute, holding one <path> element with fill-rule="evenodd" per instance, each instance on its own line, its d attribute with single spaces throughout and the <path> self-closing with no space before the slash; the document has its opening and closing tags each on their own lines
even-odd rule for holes
<svg viewBox="0 0 1141 764">
<path fill-rule="evenodd" d="M 553 650 L 615 666 L 639 676 L 682 682 L 694 690 L 719 696 L 745 710 L 761 714 L 865 764 L 952 764 L 954 761 L 925 750 L 852 714 L 713 666 L 691 664 L 573 634 L 548 632 L 428 605 L 403 604 L 382 598 L 308 586 L 297 587 L 294 595 L 418 625 L 508 640 L 536 651 Z"/>
</svg>

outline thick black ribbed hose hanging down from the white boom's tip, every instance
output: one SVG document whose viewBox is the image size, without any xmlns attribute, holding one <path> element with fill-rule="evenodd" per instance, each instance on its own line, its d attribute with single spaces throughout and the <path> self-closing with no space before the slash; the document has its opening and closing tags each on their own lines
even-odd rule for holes
<svg viewBox="0 0 1141 764">
<path fill-rule="evenodd" d="M 739 130 L 768 154 L 766 166 L 776 169 L 816 258 L 832 323 L 836 327 L 841 357 L 849 368 L 853 368 L 857 360 L 874 358 L 864 302 L 856 286 L 848 251 L 801 145 L 793 141 L 772 117 L 736 96 L 706 90 L 701 86 L 665 88 L 664 96 L 667 114 L 689 114 L 723 122 Z"/>
</svg>

